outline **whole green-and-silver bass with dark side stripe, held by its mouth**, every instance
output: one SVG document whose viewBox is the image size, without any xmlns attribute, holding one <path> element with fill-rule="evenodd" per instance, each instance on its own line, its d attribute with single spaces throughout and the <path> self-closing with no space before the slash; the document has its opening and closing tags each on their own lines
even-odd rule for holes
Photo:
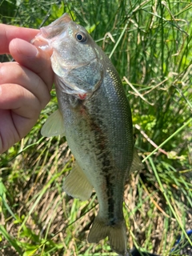
<svg viewBox="0 0 192 256">
<path fill-rule="evenodd" d="M 98 215 L 88 242 L 108 237 L 112 250 L 127 252 L 123 194 L 131 171 L 141 169 L 134 150 L 130 104 L 110 58 L 69 14 L 44 26 L 32 42 L 51 50 L 58 110 L 42 135 L 65 135 L 75 166 L 63 183 L 66 194 L 88 200 L 95 190 Z"/>
</svg>

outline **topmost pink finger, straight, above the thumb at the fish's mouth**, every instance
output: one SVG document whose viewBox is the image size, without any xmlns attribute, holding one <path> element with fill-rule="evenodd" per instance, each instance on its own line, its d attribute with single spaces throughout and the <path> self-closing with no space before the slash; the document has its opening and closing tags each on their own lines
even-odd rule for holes
<svg viewBox="0 0 192 256">
<path fill-rule="evenodd" d="M 0 54 L 10 54 L 9 44 L 14 38 L 21 38 L 27 42 L 38 34 L 39 30 L 25 27 L 0 24 Z"/>
</svg>

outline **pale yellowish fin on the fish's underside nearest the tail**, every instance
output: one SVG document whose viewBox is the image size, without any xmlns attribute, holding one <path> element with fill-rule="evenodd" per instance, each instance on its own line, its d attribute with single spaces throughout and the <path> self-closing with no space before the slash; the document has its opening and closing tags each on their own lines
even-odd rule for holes
<svg viewBox="0 0 192 256">
<path fill-rule="evenodd" d="M 86 201 L 90 198 L 93 186 L 90 184 L 86 175 L 76 162 L 76 166 L 70 171 L 70 174 L 63 182 L 63 190 L 73 198 L 79 198 Z"/>
</svg>

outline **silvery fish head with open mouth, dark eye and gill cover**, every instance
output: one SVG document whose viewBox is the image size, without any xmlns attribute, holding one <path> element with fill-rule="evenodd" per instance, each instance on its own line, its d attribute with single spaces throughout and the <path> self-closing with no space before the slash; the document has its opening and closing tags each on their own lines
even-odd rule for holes
<svg viewBox="0 0 192 256">
<path fill-rule="evenodd" d="M 33 43 L 42 50 L 52 50 L 50 60 L 56 76 L 56 89 L 82 98 L 92 95 L 101 85 L 102 50 L 69 14 L 42 27 Z"/>
</svg>

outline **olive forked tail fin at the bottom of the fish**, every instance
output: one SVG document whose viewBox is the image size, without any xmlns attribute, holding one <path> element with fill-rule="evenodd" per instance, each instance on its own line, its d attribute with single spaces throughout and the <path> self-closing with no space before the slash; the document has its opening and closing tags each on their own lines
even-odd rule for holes
<svg viewBox="0 0 192 256">
<path fill-rule="evenodd" d="M 116 253 L 126 255 L 126 224 L 124 221 L 114 226 L 106 225 L 106 223 L 98 216 L 94 219 L 94 223 L 90 228 L 88 242 L 98 243 L 100 240 L 108 236 L 110 247 Z"/>
</svg>

